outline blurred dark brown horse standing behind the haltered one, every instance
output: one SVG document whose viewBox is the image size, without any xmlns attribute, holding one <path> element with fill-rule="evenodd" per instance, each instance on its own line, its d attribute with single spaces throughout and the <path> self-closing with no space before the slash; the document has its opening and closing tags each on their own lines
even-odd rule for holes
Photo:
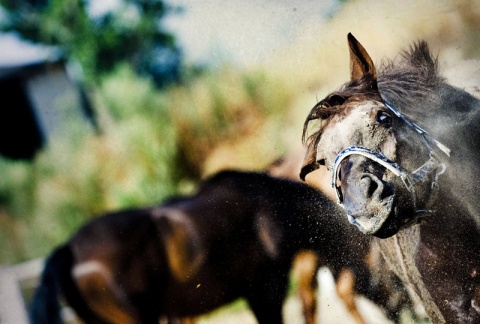
<svg viewBox="0 0 480 324">
<path fill-rule="evenodd" d="M 107 213 L 81 227 L 47 259 L 32 323 L 61 323 L 59 295 L 86 323 L 192 318 L 240 297 L 259 323 L 282 323 L 292 259 L 304 250 L 316 251 L 347 287 L 351 312 L 358 310 L 349 285 L 398 318 L 410 307 L 408 296 L 390 277 L 372 276 L 370 237 L 338 212 L 301 182 L 219 172 L 191 196 Z M 406 297 L 392 303 L 398 296 Z M 314 323 L 310 297 L 305 312 Z"/>
</svg>

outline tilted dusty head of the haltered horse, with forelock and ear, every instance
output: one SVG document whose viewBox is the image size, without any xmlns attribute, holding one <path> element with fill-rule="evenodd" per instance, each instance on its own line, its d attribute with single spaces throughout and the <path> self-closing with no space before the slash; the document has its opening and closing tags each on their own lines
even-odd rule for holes
<svg viewBox="0 0 480 324">
<path fill-rule="evenodd" d="M 372 59 L 351 34 L 348 44 L 350 82 L 307 117 L 300 177 L 325 165 L 349 221 L 385 238 L 429 214 L 449 150 L 382 98 Z"/>
</svg>

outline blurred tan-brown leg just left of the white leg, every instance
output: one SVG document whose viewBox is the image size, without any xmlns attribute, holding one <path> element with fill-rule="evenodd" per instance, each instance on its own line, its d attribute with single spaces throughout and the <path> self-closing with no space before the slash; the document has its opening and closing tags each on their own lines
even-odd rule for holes
<svg viewBox="0 0 480 324">
<path fill-rule="evenodd" d="M 298 295 L 306 324 L 317 323 L 316 275 L 320 267 L 319 261 L 318 255 L 312 251 L 300 252 L 295 256 L 293 275 L 298 282 Z"/>
</svg>

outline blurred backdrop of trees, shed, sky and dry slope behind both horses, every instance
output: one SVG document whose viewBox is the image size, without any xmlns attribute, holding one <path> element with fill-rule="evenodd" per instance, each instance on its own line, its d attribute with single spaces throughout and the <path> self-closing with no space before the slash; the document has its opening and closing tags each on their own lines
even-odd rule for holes
<svg viewBox="0 0 480 324">
<path fill-rule="evenodd" d="M 348 32 L 376 63 L 418 39 L 441 68 L 478 59 L 480 1 L 0 0 L 0 30 L 6 265 L 298 152 L 310 108 L 349 78 Z"/>
</svg>

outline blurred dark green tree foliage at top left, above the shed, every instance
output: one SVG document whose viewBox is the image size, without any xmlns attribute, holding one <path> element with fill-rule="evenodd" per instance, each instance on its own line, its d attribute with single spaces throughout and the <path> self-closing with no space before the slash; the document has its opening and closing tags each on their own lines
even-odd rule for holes
<svg viewBox="0 0 480 324">
<path fill-rule="evenodd" d="M 95 1 L 1 0 L 6 19 L 0 28 L 58 46 L 80 64 L 87 82 L 122 62 L 159 86 L 180 79 L 181 51 L 160 23 L 178 9 L 160 0 L 122 0 L 104 13 L 89 12 Z"/>
</svg>

